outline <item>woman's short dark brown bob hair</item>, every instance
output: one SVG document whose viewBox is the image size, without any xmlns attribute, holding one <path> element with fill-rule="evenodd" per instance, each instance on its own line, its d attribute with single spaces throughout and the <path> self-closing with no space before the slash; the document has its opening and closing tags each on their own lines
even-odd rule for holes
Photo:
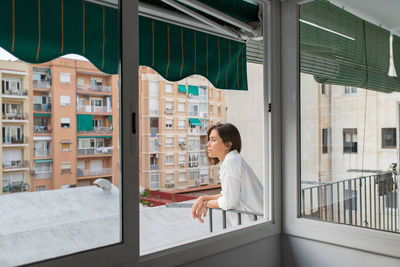
<svg viewBox="0 0 400 267">
<path fill-rule="evenodd" d="M 216 130 L 218 132 L 219 137 L 221 137 L 222 142 L 226 144 L 227 142 L 231 142 L 231 150 L 237 150 L 239 153 L 242 149 L 242 139 L 240 138 L 240 133 L 239 130 L 231 123 L 218 123 L 215 125 L 212 125 L 210 128 L 207 130 L 207 141 L 210 141 L 210 133 L 212 130 Z M 207 148 L 206 148 L 207 150 Z M 208 156 L 208 153 L 206 151 L 206 155 L 208 158 L 208 162 L 212 165 L 218 164 L 219 159 L 218 158 L 210 158 Z"/>
</svg>

